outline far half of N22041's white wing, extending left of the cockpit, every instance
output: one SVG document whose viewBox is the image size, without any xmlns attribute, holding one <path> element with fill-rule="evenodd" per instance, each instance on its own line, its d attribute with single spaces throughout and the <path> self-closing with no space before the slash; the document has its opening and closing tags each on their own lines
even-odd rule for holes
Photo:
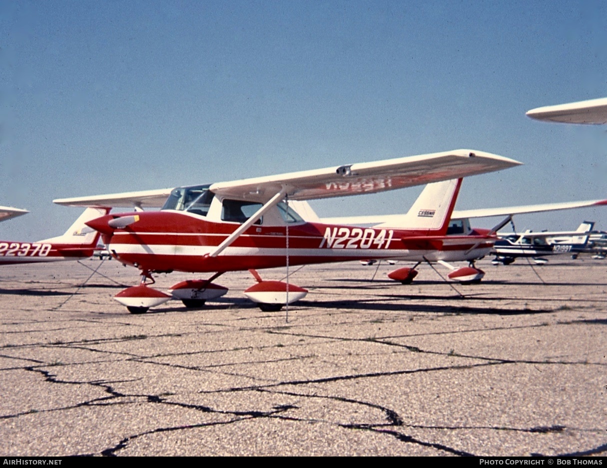
<svg viewBox="0 0 607 468">
<path fill-rule="evenodd" d="M 160 208 L 171 194 L 172 188 L 122 192 L 92 197 L 57 198 L 53 203 L 89 208 Z"/>
</svg>

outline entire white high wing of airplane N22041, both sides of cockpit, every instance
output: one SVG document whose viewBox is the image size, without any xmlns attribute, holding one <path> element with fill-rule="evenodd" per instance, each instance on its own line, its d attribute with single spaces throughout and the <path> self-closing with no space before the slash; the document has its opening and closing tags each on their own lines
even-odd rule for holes
<svg viewBox="0 0 607 468">
<path fill-rule="evenodd" d="M 430 182 L 498 171 L 521 164 L 482 151 L 459 149 L 441 153 L 395 158 L 371 163 L 345 164 L 313 171 L 214 183 L 209 190 L 220 197 L 266 203 L 279 193 L 290 200 L 344 197 L 395 190 Z M 171 189 L 97 195 L 53 200 L 69 206 L 159 206 Z M 138 205 L 137 205 L 138 203 Z M 151 203 L 155 203 L 151 205 Z M 160 203 L 160 206 L 162 203 Z"/>
</svg>

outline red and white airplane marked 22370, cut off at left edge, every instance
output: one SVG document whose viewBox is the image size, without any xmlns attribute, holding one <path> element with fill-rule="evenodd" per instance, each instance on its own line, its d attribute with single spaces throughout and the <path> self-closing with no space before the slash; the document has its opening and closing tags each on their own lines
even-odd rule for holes
<svg viewBox="0 0 607 468">
<path fill-rule="evenodd" d="M 107 208 L 87 208 L 63 236 L 36 242 L 0 240 L 0 265 L 86 259 L 92 256 L 100 236 L 86 223 L 108 212 Z M 25 213 L 23 209 L 0 206 L 0 221 Z"/>
</svg>

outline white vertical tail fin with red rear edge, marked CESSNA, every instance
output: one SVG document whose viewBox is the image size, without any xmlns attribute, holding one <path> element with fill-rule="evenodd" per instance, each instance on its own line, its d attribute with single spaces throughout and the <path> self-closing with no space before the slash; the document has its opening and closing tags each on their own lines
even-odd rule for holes
<svg viewBox="0 0 607 468">
<path fill-rule="evenodd" d="M 427 234 L 444 236 L 462 179 L 446 180 L 426 185 L 407 214 L 391 222 L 390 227 L 426 231 Z M 382 226 L 382 225 L 380 225 Z"/>
</svg>

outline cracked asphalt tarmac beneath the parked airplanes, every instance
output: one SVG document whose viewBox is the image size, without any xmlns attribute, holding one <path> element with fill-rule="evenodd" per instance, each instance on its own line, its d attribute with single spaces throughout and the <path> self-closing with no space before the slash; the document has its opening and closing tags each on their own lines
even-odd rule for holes
<svg viewBox="0 0 607 468">
<path fill-rule="evenodd" d="M 138 281 L 115 260 L 3 268 L 0 453 L 606 455 L 607 263 L 551 260 L 545 285 L 524 260 L 478 266 L 453 287 L 293 268 L 310 293 L 288 316 L 244 299 L 248 272 L 139 316 L 112 300 Z"/>
</svg>

